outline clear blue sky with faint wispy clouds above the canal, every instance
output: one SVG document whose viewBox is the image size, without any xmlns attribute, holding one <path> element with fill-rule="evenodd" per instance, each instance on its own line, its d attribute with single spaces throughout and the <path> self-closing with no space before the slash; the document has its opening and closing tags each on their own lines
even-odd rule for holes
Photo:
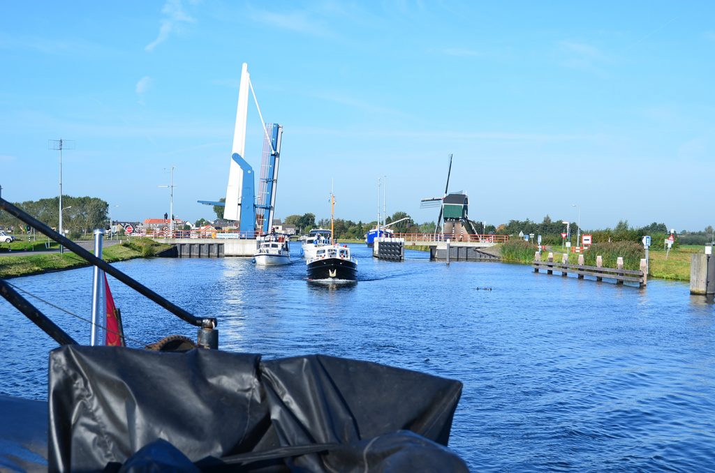
<svg viewBox="0 0 715 473">
<path fill-rule="evenodd" d="M 284 126 L 276 215 L 370 221 L 444 189 L 470 218 L 715 224 L 710 1 L 4 2 L 0 185 L 100 196 L 118 219 L 212 217 L 240 68 Z M 250 104 L 247 160 L 262 136 Z M 117 207 L 118 206 L 118 207 Z"/>
</svg>

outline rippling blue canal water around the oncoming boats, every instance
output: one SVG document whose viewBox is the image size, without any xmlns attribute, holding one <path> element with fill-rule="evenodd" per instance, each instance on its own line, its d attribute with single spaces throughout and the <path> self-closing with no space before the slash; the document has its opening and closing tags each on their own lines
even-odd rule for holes
<svg viewBox="0 0 715 473">
<path fill-rule="evenodd" d="M 715 469 L 715 308 L 686 284 L 647 289 L 501 263 L 381 262 L 364 245 L 357 284 L 315 284 L 250 259 L 139 259 L 119 269 L 196 315 L 220 347 L 322 353 L 458 379 L 450 447 L 479 471 Z M 11 279 L 89 317 L 91 269 Z M 112 279 L 110 279 L 112 284 Z M 113 281 L 129 344 L 194 327 Z M 72 337 L 87 324 L 39 303 Z M 0 394 L 46 399 L 44 333 L 0 300 Z"/>
</svg>

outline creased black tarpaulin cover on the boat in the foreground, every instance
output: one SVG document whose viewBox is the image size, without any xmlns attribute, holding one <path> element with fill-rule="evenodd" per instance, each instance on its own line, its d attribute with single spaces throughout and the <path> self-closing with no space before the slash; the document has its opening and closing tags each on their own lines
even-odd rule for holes
<svg viewBox="0 0 715 473">
<path fill-rule="evenodd" d="M 50 470 L 467 471 L 462 384 L 352 359 L 65 346 L 49 362 Z"/>
</svg>

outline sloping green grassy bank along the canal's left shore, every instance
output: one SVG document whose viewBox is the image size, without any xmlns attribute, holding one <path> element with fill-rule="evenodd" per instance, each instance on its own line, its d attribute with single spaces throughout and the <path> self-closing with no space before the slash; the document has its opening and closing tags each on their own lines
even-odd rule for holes
<svg viewBox="0 0 715 473">
<path fill-rule="evenodd" d="M 151 257 L 169 245 L 158 244 L 150 239 L 139 239 L 131 244 L 117 244 L 102 251 L 102 258 L 115 263 L 127 259 Z M 29 254 L 0 258 L 0 278 L 30 276 L 46 272 L 62 271 L 89 266 L 84 259 L 74 253 Z"/>
</svg>

